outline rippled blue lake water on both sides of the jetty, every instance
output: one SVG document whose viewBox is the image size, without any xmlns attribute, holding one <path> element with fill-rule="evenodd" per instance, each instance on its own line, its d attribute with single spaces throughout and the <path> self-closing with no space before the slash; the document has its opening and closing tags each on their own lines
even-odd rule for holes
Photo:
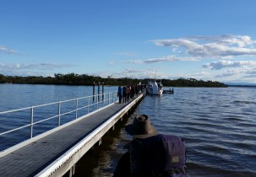
<svg viewBox="0 0 256 177">
<path fill-rule="evenodd" d="M 1 111 L 92 94 L 85 86 L 0 84 L 0 91 Z M 75 176 L 112 176 L 131 140 L 124 126 L 137 114 L 149 115 L 159 133 L 185 140 L 188 176 L 256 176 L 255 98 L 256 88 L 236 87 L 174 88 L 174 94 L 146 96 L 101 147 L 85 155 Z"/>
</svg>

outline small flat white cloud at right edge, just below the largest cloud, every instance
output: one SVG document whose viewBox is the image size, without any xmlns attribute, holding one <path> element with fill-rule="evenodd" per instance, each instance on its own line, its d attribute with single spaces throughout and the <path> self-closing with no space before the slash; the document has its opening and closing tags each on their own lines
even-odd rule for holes
<svg viewBox="0 0 256 177">
<path fill-rule="evenodd" d="M 218 61 L 218 62 L 210 62 L 203 65 L 205 68 L 210 68 L 212 70 L 221 70 L 225 67 L 255 67 L 255 61 Z"/>
</svg>

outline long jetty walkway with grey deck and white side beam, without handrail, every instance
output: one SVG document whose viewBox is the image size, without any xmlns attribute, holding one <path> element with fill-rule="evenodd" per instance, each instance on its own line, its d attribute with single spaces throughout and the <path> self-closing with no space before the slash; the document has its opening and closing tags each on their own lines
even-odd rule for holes
<svg viewBox="0 0 256 177">
<path fill-rule="evenodd" d="M 0 176 L 63 176 L 101 137 L 113 129 L 144 94 L 128 103 L 117 102 L 32 138 L 21 148 L 0 154 Z"/>
</svg>

